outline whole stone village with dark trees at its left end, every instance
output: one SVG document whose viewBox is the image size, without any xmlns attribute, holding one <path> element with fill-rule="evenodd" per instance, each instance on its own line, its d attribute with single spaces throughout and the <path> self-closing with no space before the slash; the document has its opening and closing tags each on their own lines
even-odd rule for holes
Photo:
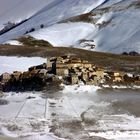
<svg viewBox="0 0 140 140">
<path fill-rule="evenodd" d="M 26 72 L 14 71 L 0 76 L 1 91 L 47 90 L 60 84 L 74 85 L 140 85 L 140 75 L 107 71 L 75 56 L 51 57 L 47 63 Z"/>
</svg>

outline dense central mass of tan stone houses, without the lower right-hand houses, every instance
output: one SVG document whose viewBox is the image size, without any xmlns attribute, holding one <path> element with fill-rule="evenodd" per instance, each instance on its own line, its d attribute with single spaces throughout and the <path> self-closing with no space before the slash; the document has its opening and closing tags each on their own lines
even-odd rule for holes
<svg viewBox="0 0 140 140">
<path fill-rule="evenodd" d="M 77 57 L 50 58 L 47 62 L 52 73 L 61 77 L 65 84 L 99 84 L 104 81 L 104 69 Z"/>
</svg>

